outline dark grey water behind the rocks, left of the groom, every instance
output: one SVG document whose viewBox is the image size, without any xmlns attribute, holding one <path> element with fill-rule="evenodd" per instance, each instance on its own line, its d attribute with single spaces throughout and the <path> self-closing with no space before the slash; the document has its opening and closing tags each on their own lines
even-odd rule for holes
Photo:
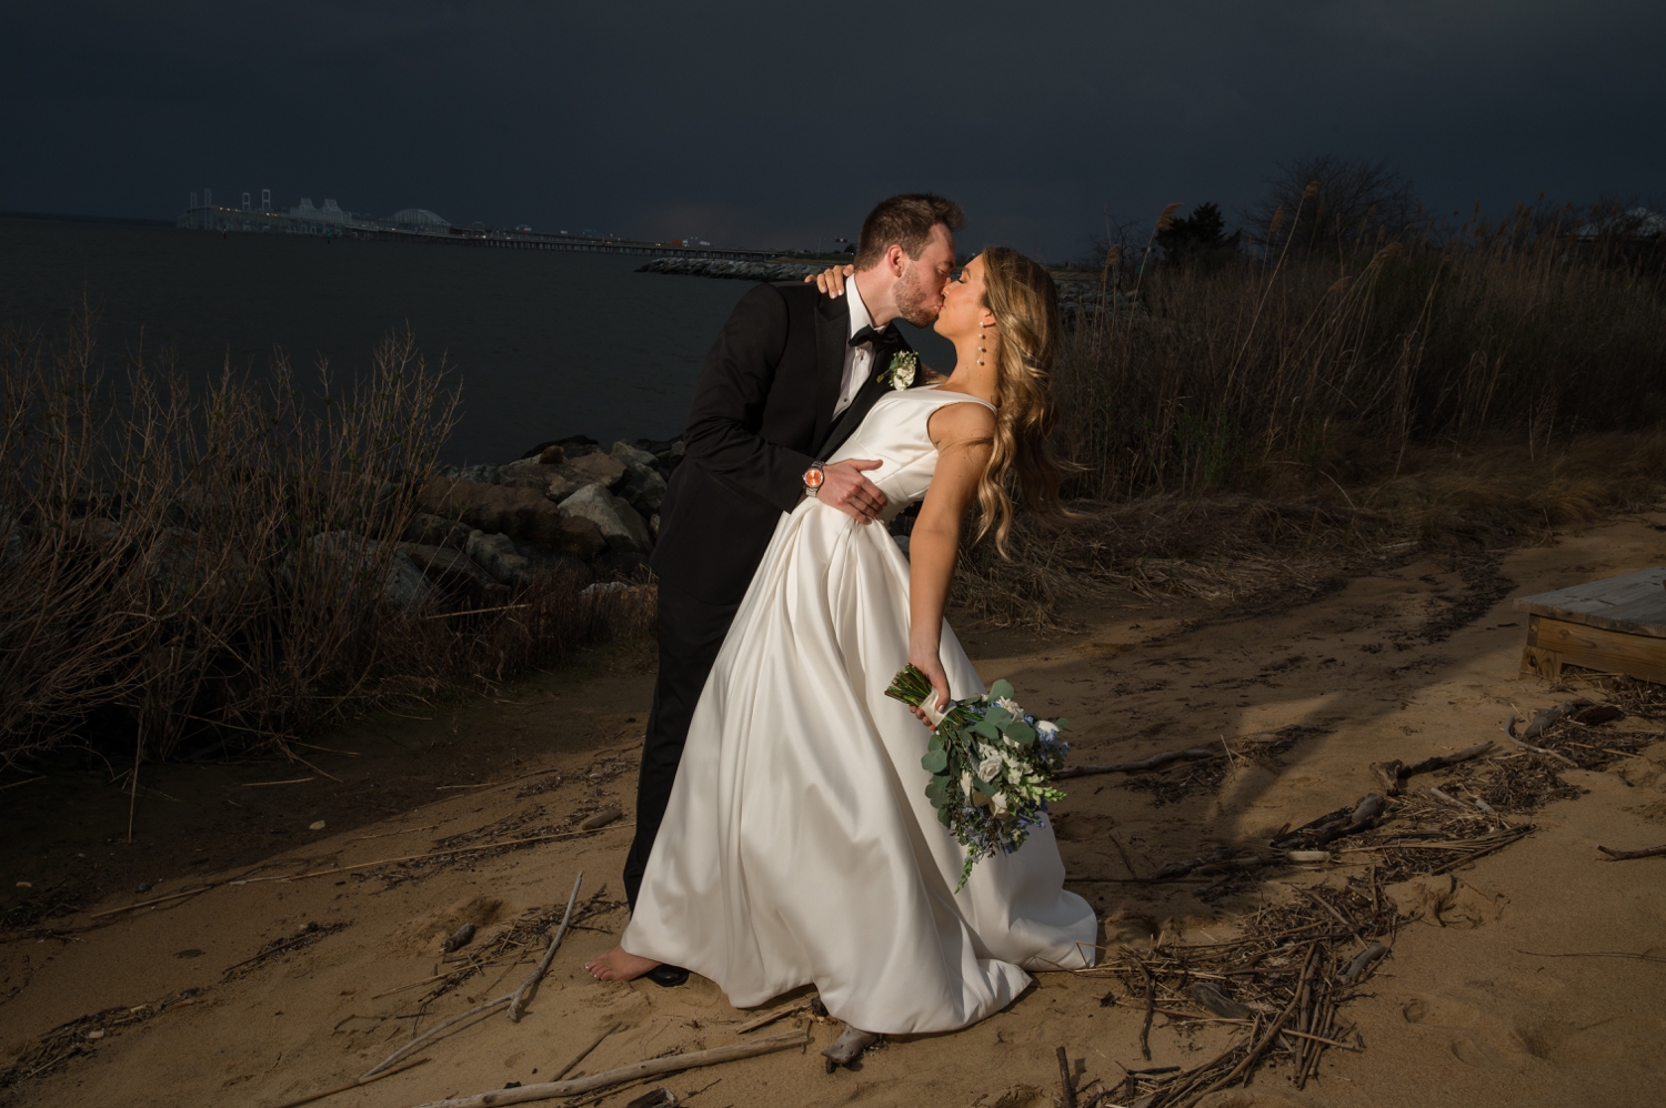
<svg viewBox="0 0 1666 1108">
<path fill-rule="evenodd" d="M 195 377 L 265 367 L 273 343 L 338 378 L 410 323 L 463 390 L 446 462 L 503 462 L 533 443 L 681 432 L 700 362 L 746 282 L 633 272 L 603 253 L 228 235 L 0 220 L 0 320 L 63 325 L 82 292 L 107 357 L 143 335 Z M 928 362 L 948 343 L 905 328 Z"/>
</svg>

